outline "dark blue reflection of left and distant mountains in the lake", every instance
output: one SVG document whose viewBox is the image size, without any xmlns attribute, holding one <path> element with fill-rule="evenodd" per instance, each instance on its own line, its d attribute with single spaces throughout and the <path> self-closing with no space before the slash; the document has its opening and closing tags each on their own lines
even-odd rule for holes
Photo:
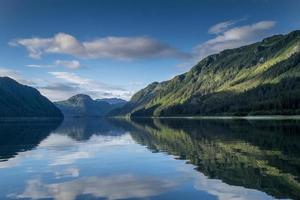
<svg viewBox="0 0 300 200">
<path fill-rule="evenodd" d="M 0 121 L 0 161 L 35 148 L 51 132 L 66 134 L 76 140 L 87 140 L 92 135 L 125 133 L 112 120 L 106 119 L 65 119 L 63 123 L 61 120 Z"/>
</svg>

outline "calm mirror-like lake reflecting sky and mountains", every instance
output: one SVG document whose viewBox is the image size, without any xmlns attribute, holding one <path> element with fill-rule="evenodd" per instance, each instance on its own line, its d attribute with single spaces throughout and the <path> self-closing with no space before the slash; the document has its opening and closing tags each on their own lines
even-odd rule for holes
<svg viewBox="0 0 300 200">
<path fill-rule="evenodd" d="M 0 122 L 0 199 L 300 199 L 300 121 Z"/>
</svg>

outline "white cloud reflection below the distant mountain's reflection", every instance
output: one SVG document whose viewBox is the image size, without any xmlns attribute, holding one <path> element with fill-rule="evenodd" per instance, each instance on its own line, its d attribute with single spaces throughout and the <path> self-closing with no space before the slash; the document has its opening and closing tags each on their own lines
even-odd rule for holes
<svg viewBox="0 0 300 200">
<path fill-rule="evenodd" d="M 19 166 L 28 159 L 44 160 L 51 166 L 73 164 L 80 159 L 88 159 L 97 153 L 113 148 L 134 144 L 129 134 L 120 136 L 93 135 L 84 142 L 78 142 L 67 135 L 53 133 L 43 140 L 36 149 L 19 152 L 15 157 L 0 162 L 1 168 Z M 46 151 L 45 151 L 46 150 Z"/>
</svg>

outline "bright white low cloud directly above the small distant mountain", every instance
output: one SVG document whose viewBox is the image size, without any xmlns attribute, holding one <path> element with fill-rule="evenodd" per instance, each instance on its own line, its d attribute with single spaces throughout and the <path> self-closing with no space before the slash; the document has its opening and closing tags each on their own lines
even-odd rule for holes
<svg viewBox="0 0 300 200">
<path fill-rule="evenodd" d="M 49 72 L 57 81 L 38 87 L 39 91 L 54 101 L 65 100 L 75 94 L 87 94 L 93 98 L 119 97 L 129 99 L 132 92 L 70 72 Z"/>
</svg>

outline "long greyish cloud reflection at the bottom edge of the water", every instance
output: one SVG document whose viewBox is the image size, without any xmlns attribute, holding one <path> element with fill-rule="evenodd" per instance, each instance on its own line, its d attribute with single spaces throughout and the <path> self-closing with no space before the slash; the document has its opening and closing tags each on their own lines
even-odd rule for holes
<svg viewBox="0 0 300 200">
<path fill-rule="evenodd" d="M 80 195 L 92 195 L 98 198 L 128 199 L 156 196 L 171 190 L 175 181 L 136 175 L 120 175 L 107 177 L 85 177 L 76 180 L 44 184 L 39 179 L 27 182 L 25 191 L 13 198 L 74 200 Z"/>
</svg>

